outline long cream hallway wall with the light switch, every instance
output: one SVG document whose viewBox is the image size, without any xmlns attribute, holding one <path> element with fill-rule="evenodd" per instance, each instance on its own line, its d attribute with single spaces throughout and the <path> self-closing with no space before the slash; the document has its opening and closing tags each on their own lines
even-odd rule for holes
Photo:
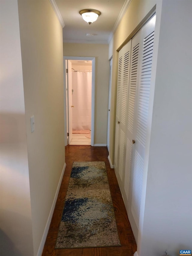
<svg viewBox="0 0 192 256">
<path fill-rule="evenodd" d="M 18 1 L 34 254 L 64 167 L 62 27 L 49 1 Z M 35 116 L 31 133 L 30 117 Z"/>
</svg>

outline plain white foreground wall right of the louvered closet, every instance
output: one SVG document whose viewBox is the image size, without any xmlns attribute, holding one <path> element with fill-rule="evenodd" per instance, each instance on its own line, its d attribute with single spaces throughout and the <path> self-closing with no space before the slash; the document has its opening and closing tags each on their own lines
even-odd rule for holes
<svg viewBox="0 0 192 256">
<path fill-rule="evenodd" d="M 191 13 L 191 1 L 163 1 L 139 256 L 192 245 Z"/>
</svg>

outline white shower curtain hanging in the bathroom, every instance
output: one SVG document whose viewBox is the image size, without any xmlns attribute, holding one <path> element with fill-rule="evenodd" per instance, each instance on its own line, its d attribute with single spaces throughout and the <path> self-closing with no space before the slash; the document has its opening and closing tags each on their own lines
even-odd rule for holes
<svg viewBox="0 0 192 256">
<path fill-rule="evenodd" d="M 73 130 L 91 130 L 92 72 L 72 72 Z"/>
</svg>

